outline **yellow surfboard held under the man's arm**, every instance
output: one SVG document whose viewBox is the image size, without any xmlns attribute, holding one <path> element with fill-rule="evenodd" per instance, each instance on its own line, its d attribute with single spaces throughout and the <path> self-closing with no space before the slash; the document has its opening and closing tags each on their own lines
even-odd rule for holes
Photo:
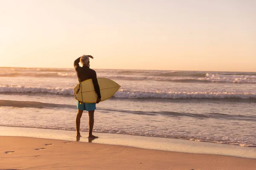
<svg viewBox="0 0 256 170">
<path fill-rule="evenodd" d="M 118 89 L 121 87 L 119 84 L 111 79 L 102 77 L 99 77 L 97 79 L 102 99 L 101 101 L 111 98 L 111 96 L 113 96 L 116 91 L 118 91 Z M 74 96 L 75 99 L 79 102 L 96 103 L 98 96 L 93 86 L 93 80 L 87 79 L 81 83 L 78 83 L 74 88 Z"/>
</svg>

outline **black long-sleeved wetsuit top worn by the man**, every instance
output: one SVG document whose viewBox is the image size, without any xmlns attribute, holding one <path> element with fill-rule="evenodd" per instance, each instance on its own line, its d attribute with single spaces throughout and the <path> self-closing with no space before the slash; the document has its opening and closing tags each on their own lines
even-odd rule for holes
<svg viewBox="0 0 256 170">
<path fill-rule="evenodd" d="M 98 95 L 98 98 L 101 99 L 96 71 L 94 71 L 93 69 L 90 69 L 87 66 L 80 67 L 79 62 L 80 62 L 80 57 L 76 59 L 74 62 L 74 67 L 76 69 L 76 75 L 78 77 L 78 81 L 83 82 L 84 80 L 87 80 L 87 79 L 93 79 L 94 89 L 96 91 L 96 94 Z"/>
</svg>

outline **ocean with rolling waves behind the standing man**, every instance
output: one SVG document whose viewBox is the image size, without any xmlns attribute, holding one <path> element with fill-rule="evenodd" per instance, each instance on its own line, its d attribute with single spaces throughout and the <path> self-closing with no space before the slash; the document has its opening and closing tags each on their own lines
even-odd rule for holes
<svg viewBox="0 0 256 170">
<path fill-rule="evenodd" d="M 95 70 L 121 85 L 95 132 L 256 147 L 255 72 Z M 77 83 L 73 68 L 0 68 L 0 126 L 75 130 Z"/>
</svg>

